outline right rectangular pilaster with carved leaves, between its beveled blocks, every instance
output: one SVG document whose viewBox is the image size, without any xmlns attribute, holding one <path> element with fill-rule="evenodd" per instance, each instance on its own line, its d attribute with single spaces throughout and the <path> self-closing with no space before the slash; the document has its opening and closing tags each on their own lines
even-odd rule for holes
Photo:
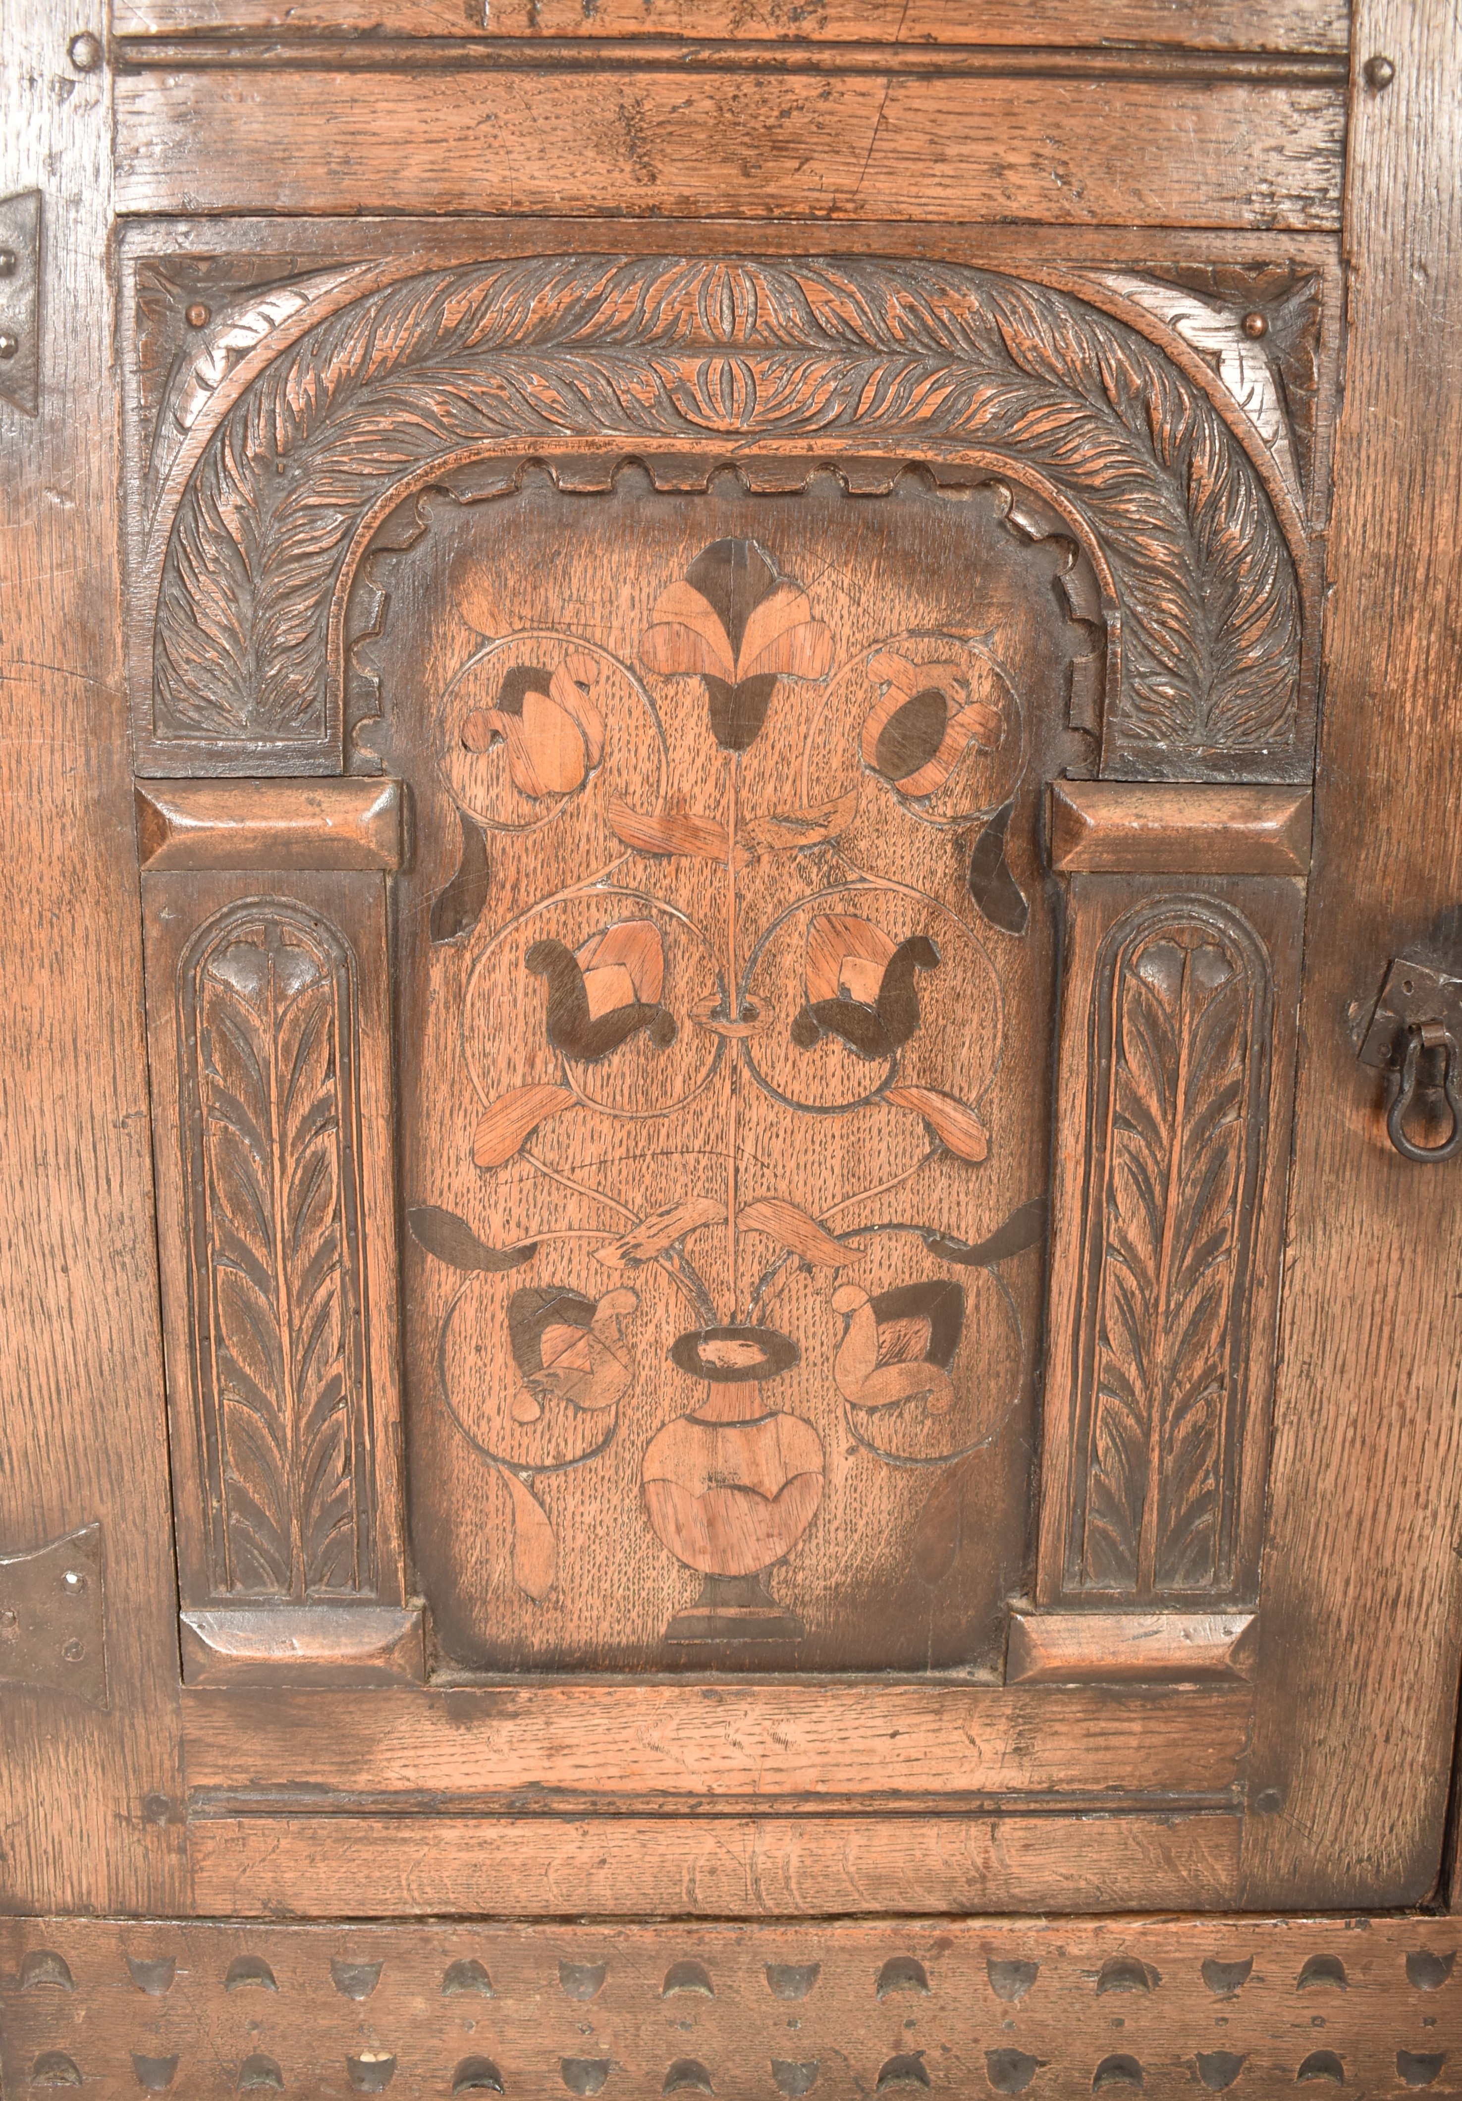
<svg viewBox="0 0 1462 2101">
<path fill-rule="evenodd" d="M 1298 901 L 1071 880 L 1044 1601 L 1254 1590 Z"/>
</svg>

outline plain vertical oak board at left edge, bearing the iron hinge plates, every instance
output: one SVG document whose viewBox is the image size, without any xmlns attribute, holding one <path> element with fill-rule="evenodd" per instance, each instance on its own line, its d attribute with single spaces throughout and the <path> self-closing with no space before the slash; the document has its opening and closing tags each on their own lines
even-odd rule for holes
<svg viewBox="0 0 1462 2101">
<path fill-rule="evenodd" d="M 0 1553 L 101 1523 L 111 1704 L 6 1687 L 0 1910 L 166 1908 L 185 1885 L 105 437 L 118 418 L 109 82 L 67 65 L 48 0 L 8 4 L 4 44 L 0 193 L 42 185 L 42 345 L 38 414 L 0 405 L 0 721 L 17 843 L 0 876 Z"/>
</svg>

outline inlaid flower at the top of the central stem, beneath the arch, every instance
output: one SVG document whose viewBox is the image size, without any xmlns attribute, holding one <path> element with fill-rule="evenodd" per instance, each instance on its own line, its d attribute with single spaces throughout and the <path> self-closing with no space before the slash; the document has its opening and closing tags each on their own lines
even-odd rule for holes
<svg viewBox="0 0 1462 2101">
<path fill-rule="evenodd" d="M 754 540 L 716 540 L 660 595 L 639 653 L 649 670 L 699 672 L 716 744 L 744 752 L 779 677 L 826 677 L 832 635 Z"/>
</svg>

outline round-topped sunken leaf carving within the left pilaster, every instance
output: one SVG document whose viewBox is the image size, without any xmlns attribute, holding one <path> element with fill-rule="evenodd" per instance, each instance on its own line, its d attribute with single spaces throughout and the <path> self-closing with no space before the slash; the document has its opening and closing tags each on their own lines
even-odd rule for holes
<svg viewBox="0 0 1462 2101">
<path fill-rule="evenodd" d="M 374 1595 L 355 964 L 252 899 L 181 966 L 191 1326 L 218 1595 Z"/>
</svg>

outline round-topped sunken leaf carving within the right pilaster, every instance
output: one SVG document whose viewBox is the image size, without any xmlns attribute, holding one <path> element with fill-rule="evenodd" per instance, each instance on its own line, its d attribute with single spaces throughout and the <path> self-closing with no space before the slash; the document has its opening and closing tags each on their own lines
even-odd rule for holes
<svg viewBox="0 0 1462 2101">
<path fill-rule="evenodd" d="M 1233 1534 L 1273 985 L 1208 899 L 1128 914 L 1092 1017 L 1067 1586 L 1223 1593 Z"/>
</svg>

